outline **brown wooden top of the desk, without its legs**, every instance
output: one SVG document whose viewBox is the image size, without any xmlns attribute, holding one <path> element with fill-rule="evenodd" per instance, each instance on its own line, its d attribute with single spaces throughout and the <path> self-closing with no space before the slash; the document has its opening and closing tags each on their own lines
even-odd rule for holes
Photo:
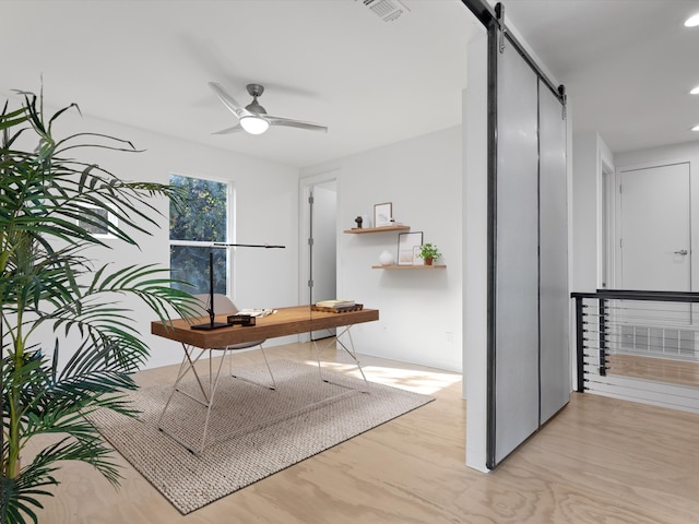
<svg viewBox="0 0 699 524">
<path fill-rule="evenodd" d="M 227 314 L 216 315 L 216 321 L 226 322 L 227 317 Z M 312 311 L 310 306 L 294 306 L 291 308 L 279 308 L 276 313 L 269 314 L 264 318 L 258 317 L 254 320 L 256 325 L 229 325 L 212 331 L 192 330 L 190 329 L 190 324 L 183 319 L 173 320 L 169 324 L 154 321 L 151 322 L 151 333 L 201 348 L 224 347 L 228 344 L 240 344 L 242 342 L 261 341 L 277 336 L 371 322 L 379 320 L 379 310 L 362 309 L 359 311 L 331 313 Z M 208 321 L 208 317 L 192 319 L 192 323 L 194 324 Z"/>
</svg>

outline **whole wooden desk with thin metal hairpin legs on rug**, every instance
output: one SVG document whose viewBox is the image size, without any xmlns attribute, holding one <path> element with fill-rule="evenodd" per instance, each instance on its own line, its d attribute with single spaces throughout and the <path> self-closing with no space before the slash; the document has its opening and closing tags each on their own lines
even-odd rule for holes
<svg viewBox="0 0 699 524">
<path fill-rule="evenodd" d="M 226 322 L 226 314 L 216 317 L 217 322 Z M 218 362 L 217 369 L 212 368 L 211 354 L 212 349 L 221 349 L 226 346 L 230 346 L 234 344 L 242 344 L 248 342 L 256 341 L 264 341 L 268 338 L 274 338 L 277 336 L 286 336 L 286 335 L 295 335 L 298 333 L 309 333 L 311 331 L 320 331 L 320 330 L 330 330 L 333 327 L 344 327 L 337 335 L 335 336 L 333 342 L 336 342 L 355 361 L 357 365 L 357 369 L 362 373 L 366 382 L 366 377 L 364 376 L 364 370 L 359 365 L 359 360 L 357 359 L 357 355 L 354 350 L 354 343 L 352 342 L 352 333 L 350 329 L 354 324 L 360 324 L 363 322 L 371 322 L 375 320 L 379 320 L 379 311 L 377 309 L 362 309 L 359 311 L 347 311 L 342 313 L 331 313 L 325 311 L 313 311 L 310 306 L 294 306 L 291 308 L 280 308 L 275 313 L 269 314 L 264 318 L 256 318 L 256 325 L 242 326 L 242 325 L 228 325 L 225 327 L 220 327 L 211 331 L 202 331 L 202 330 L 192 330 L 190 327 L 191 324 L 199 324 L 202 322 L 209 322 L 210 319 L 199 318 L 199 319 L 190 319 L 188 322 L 183 319 L 178 319 L 171 321 L 169 324 L 163 324 L 159 321 L 151 323 L 151 333 L 154 335 L 163 336 L 165 338 L 169 338 L 171 341 L 177 341 L 181 343 L 182 349 L 185 350 L 185 358 L 182 359 L 182 364 L 180 366 L 179 372 L 177 374 L 177 379 L 175 380 L 175 384 L 173 385 L 173 392 L 170 393 L 169 398 L 161 414 L 158 419 L 158 429 L 166 434 L 169 434 L 175 441 L 179 442 L 181 445 L 187 448 L 194 454 L 202 453 L 204 451 L 204 446 L 206 445 L 206 432 L 209 428 L 209 419 L 211 416 L 211 408 L 214 402 L 214 393 L 216 391 L 216 385 L 218 383 L 218 378 L 221 376 L 221 369 L 223 367 L 224 358 L 222 358 Z M 190 324 L 191 322 L 191 324 Z M 345 344 L 341 338 L 343 335 L 347 335 L 348 344 Z M 262 347 L 260 345 L 260 347 Z M 316 341 L 313 341 L 313 347 L 316 348 L 316 356 L 318 359 L 318 370 L 320 373 L 320 380 L 324 382 L 329 382 L 330 380 L 323 378 L 321 365 L 320 365 L 320 355 L 322 349 L 318 348 Z M 329 347 L 325 346 L 325 347 Z M 202 355 L 209 354 L 209 380 L 202 380 L 194 365 L 199 361 Z M 225 355 L 225 353 L 224 353 Z M 264 349 L 262 349 L 262 355 L 264 356 Z M 264 362 L 268 366 L 268 370 L 270 371 L 270 376 L 272 377 L 273 385 L 265 385 L 254 382 L 257 385 L 262 385 L 264 388 L 270 388 L 272 390 L 276 389 L 276 384 L 274 382 L 274 378 L 272 374 L 272 370 L 270 368 L 269 362 L 266 361 L 266 357 L 264 357 Z M 188 374 L 192 373 L 197 383 L 199 385 L 199 395 L 194 396 L 190 393 L 180 391 L 178 385 L 180 381 Z M 233 377 L 236 377 L 233 374 Z M 237 377 L 236 377 L 237 378 Z M 245 380 L 245 379 L 241 379 Z M 342 388 L 347 388 L 343 384 Z M 348 389 L 348 388 L 347 388 Z M 350 390 L 350 389 L 348 389 Z M 355 390 L 350 390 L 352 392 Z M 162 425 L 163 418 L 170 405 L 170 401 L 176 393 L 183 394 L 189 396 L 197 403 L 203 405 L 206 408 L 206 419 L 203 427 L 203 432 L 201 437 L 201 442 L 199 445 L 193 445 L 191 442 L 185 442 L 177 434 L 168 432 Z M 340 393 L 332 397 L 324 398 L 322 402 L 327 402 L 336 396 L 341 396 L 345 393 Z M 311 405 L 306 406 L 311 407 Z M 285 414 L 291 415 L 291 414 Z M 232 434 L 236 434 L 242 430 L 248 428 L 237 428 L 236 431 Z"/>
</svg>

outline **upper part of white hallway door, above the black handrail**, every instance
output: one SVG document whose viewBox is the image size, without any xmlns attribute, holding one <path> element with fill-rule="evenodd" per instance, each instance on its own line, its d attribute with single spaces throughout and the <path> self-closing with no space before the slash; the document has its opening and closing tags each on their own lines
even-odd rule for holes
<svg viewBox="0 0 699 524">
<path fill-rule="evenodd" d="M 691 290 L 689 164 L 620 169 L 620 289 Z"/>
</svg>

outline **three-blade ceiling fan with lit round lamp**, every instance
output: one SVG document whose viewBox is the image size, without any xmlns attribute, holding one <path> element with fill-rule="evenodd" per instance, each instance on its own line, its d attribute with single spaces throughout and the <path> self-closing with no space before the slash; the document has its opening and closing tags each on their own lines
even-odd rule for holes
<svg viewBox="0 0 699 524">
<path fill-rule="evenodd" d="M 262 134 L 270 126 L 286 126 L 288 128 L 309 129 L 311 131 L 328 131 L 325 126 L 313 122 L 304 122 L 292 118 L 274 117 L 266 112 L 259 103 L 258 97 L 264 93 L 264 86 L 260 84 L 248 84 L 248 93 L 252 96 L 252 102 L 242 107 L 236 99 L 224 91 L 218 82 L 209 82 L 209 86 L 221 98 L 221 102 L 238 117 L 238 124 L 233 128 L 217 131 L 214 134 L 228 134 L 238 131 L 247 131 L 250 134 Z"/>
</svg>

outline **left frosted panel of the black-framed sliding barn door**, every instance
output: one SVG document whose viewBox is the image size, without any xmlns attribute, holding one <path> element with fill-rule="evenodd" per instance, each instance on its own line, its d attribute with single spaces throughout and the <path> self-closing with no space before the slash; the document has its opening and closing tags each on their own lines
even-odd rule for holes
<svg viewBox="0 0 699 524">
<path fill-rule="evenodd" d="M 537 79 L 513 49 L 498 58 L 496 463 L 538 427 Z"/>
</svg>

